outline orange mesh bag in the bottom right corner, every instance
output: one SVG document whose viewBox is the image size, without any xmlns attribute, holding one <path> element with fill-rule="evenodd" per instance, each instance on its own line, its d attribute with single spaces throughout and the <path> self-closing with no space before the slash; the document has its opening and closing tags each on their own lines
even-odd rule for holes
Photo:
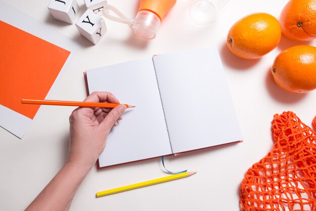
<svg viewBox="0 0 316 211">
<path fill-rule="evenodd" d="M 315 132 L 293 112 L 283 112 L 274 116 L 272 133 L 271 152 L 241 183 L 241 209 L 316 210 Z"/>
</svg>

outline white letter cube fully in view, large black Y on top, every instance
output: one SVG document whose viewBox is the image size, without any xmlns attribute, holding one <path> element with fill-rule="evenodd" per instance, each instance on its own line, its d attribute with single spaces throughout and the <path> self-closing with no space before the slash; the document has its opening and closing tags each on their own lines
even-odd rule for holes
<svg viewBox="0 0 316 211">
<path fill-rule="evenodd" d="M 80 34 L 96 44 L 107 32 L 106 22 L 103 18 L 87 10 L 76 22 Z"/>
</svg>

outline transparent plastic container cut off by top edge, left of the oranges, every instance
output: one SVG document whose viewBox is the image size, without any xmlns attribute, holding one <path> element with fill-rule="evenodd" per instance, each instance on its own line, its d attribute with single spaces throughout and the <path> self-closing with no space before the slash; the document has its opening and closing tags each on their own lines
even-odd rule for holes
<svg viewBox="0 0 316 211">
<path fill-rule="evenodd" d="M 197 25 L 209 26 L 221 15 L 229 0 L 190 0 L 188 15 Z"/>
</svg>

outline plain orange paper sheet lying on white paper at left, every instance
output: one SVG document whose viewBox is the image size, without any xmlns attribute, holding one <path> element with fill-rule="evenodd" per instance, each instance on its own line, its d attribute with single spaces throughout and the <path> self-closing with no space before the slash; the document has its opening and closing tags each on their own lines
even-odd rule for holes
<svg viewBox="0 0 316 211">
<path fill-rule="evenodd" d="M 0 104 L 33 119 L 40 105 L 21 99 L 44 99 L 70 51 L 3 21 L 0 37 Z"/>
</svg>

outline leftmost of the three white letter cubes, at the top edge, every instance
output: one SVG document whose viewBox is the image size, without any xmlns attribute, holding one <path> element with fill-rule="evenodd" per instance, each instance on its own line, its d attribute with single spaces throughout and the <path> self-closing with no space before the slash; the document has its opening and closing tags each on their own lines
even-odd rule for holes
<svg viewBox="0 0 316 211">
<path fill-rule="evenodd" d="M 73 24 L 79 5 L 76 0 L 50 0 L 48 10 L 56 20 Z"/>
</svg>

